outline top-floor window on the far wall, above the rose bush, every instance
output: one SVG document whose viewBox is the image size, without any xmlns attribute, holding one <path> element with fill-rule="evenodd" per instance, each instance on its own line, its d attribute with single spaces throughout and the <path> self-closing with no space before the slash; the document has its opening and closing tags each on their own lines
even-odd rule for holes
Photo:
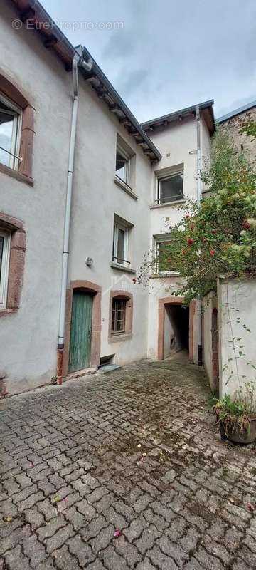
<svg viewBox="0 0 256 570">
<path fill-rule="evenodd" d="M 183 199 L 183 169 L 157 175 L 156 204 L 168 204 Z"/>
</svg>

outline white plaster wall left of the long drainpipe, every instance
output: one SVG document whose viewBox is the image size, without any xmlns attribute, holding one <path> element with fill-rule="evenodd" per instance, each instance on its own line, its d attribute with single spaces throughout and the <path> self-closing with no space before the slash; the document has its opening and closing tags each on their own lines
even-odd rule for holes
<svg viewBox="0 0 256 570">
<path fill-rule="evenodd" d="M 9 3 L 8 3 L 9 4 Z M 1 3 L 0 69 L 36 109 L 34 186 L 0 173 L 0 210 L 23 221 L 27 250 L 21 307 L 0 318 L 0 369 L 10 392 L 55 373 L 65 180 L 72 83 L 33 31 L 14 31 L 16 13 Z"/>
</svg>

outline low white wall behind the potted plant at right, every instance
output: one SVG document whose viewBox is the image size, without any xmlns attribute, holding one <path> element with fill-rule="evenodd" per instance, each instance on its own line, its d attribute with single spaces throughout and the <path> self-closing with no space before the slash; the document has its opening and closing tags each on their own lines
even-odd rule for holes
<svg viewBox="0 0 256 570">
<path fill-rule="evenodd" d="M 256 370 L 252 367 L 256 367 L 255 296 L 255 278 L 218 280 L 220 397 L 225 393 L 233 395 L 247 382 L 256 383 Z M 241 348 L 235 348 L 234 353 L 235 346 Z"/>
</svg>

